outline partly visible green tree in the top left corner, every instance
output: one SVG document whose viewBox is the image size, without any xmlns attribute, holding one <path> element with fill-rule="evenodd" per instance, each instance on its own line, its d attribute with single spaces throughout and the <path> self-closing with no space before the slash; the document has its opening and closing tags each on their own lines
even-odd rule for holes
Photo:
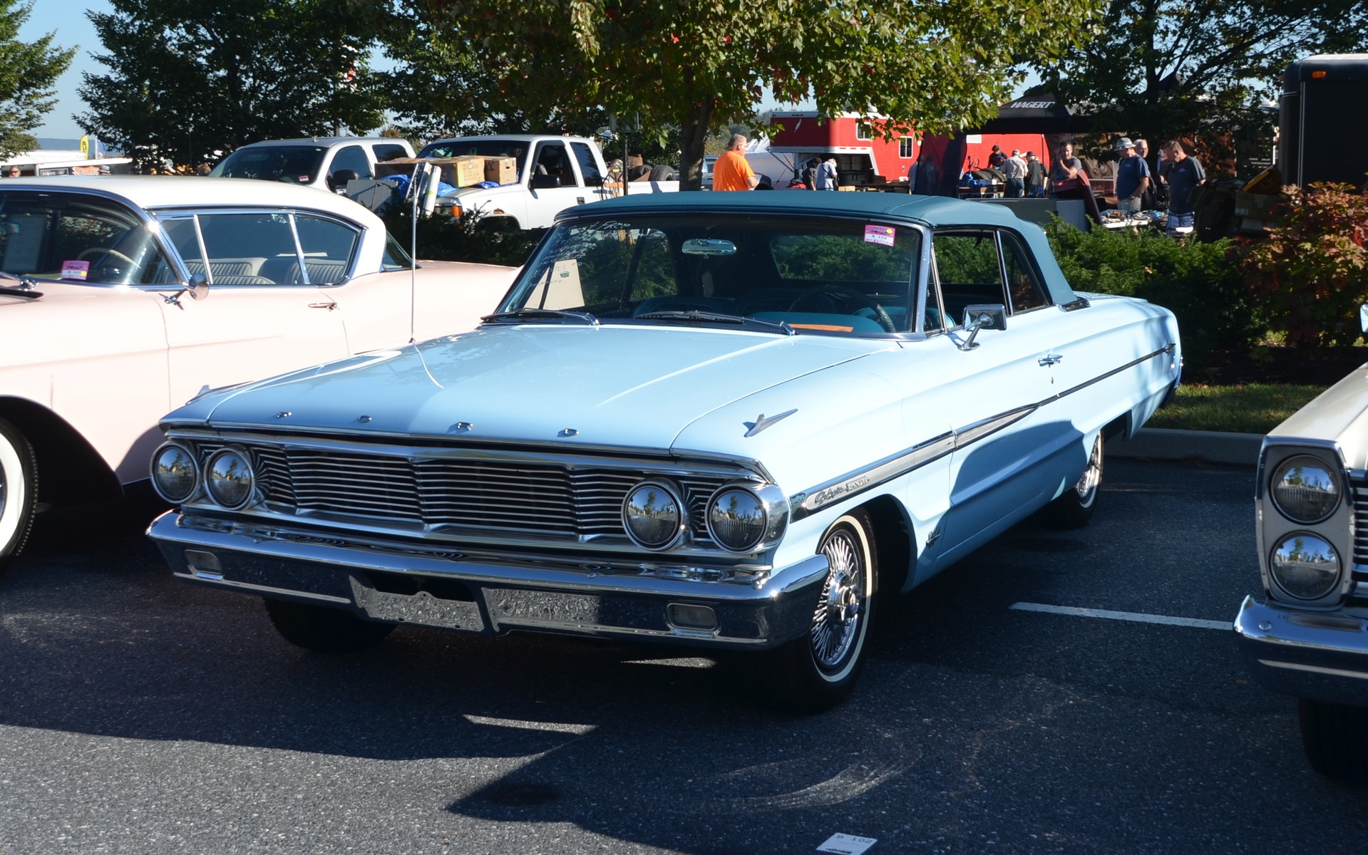
<svg viewBox="0 0 1368 855">
<path fill-rule="evenodd" d="M 53 48 L 52 33 L 31 42 L 19 41 L 19 27 L 33 12 L 33 3 L 0 0 L 0 156 L 37 148 L 29 133 L 57 100 L 57 78 L 71 64 L 75 48 Z"/>
</svg>

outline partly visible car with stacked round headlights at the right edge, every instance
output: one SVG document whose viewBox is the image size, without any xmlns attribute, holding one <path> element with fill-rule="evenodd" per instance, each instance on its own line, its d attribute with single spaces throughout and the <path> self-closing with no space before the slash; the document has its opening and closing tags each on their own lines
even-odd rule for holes
<svg viewBox="0 0 1368 855">
<path fill-rule="evenodd" d="M 1302 746 L 1368 778 L 1368 367 L 1264 439 L 1256 486 L 1263 596 L 1235 616 L 1256 680 L 1300 699 Z"/>
</svg>

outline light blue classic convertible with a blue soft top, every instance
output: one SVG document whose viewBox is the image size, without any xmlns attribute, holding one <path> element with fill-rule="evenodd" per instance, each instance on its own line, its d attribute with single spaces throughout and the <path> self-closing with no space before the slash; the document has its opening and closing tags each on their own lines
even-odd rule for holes
<svg viewBox="0 0 1368 855">
<path fill-rule="evenodd" d="M 1174 316 L 1075 294 L 990 204 L 681 193 L 564 212 L 475 331 L 167 416 L 150 535 L 312 650 L 397 624 L 751 651 L 837 703 L 878 596 L 1027 516 L 1178 383 Z"/>
</svg>

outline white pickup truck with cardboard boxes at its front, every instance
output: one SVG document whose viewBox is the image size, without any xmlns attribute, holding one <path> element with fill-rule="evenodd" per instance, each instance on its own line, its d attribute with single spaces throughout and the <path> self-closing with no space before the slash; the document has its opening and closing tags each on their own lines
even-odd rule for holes
<svg viewBox="0 0 1368 855">
<path fill-rule="evenodd" d="M 517 182 L 461 187 L 438 197 L 438 209 L 477 211 L 484 218 L 509 218 L 518 228 L 546 228 L 572 205 L 621 196 L 624 185 L 609 179 L 598 142 L 587 137 L 490 135 L 453 137 L 430 142 L 419 157 L 513 157 Z M 677 181 L 631 181 L 627 192 L 666 193 Z"/>
</svg>

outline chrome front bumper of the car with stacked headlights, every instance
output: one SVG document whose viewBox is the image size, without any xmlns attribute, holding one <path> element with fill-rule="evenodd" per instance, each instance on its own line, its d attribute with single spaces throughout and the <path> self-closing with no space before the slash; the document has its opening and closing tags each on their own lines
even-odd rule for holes
<svg viewBox="0 0 1368 855">
<path fill-rule="evenodd" d="M 1368 621 L 1246 596 L 1235 635 L 1250 672 L 1275 692 L 1368 706 Z"/>
</svg>

